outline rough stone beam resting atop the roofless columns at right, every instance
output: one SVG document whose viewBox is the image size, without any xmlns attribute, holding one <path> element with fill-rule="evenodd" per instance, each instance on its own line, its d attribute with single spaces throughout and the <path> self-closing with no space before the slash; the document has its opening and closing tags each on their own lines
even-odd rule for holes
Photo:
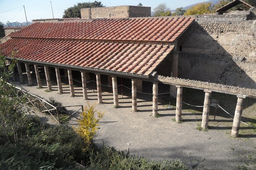
<svg viewBox="0 0 256 170">
<path fill-rule="evenodd" d="M 229 92 L 234 95 L 246 95 L 251 98 L 256 98 L 256 90 L 249 88 L 234 87 L 229 85 L 222 85 L 217 83 L 201 82 L 197 80 L 181 79 L 175 77 L 165 77 L 162 75 L 155 76 L 156 81 L 163 83 L 170 83 L 172 85 L 186 86 L 186 87 L 197 87 L 205 90 L 214 90 L 221 92 Z"/>
</svg>

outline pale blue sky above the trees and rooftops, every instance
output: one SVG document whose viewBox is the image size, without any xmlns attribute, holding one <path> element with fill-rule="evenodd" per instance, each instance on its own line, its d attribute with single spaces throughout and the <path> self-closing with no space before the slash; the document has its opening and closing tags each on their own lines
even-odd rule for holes
<svg viewBox="0 0 256 170">
<path fill-rule="evenodd" d="M 93 2 L 94 0 L 91 0 Z M 104 6 L 118 5 L 138 5 L 151 6 L 151 11 L 160 3 L 166 3 L 174 10 L 178 7 L 192 5 L 194 3 L 205 2 L 205 0 L 99 0 Z M 63 12 L 70 6 L 78 2 L 88 2 L 88 0 L 52 0 L 54 18 L 62 18 Z M 50 0 L 0 0 L 0 22 L 25 22 L 25 6 L 28 21 L 32 19 L 46 19 L 52 17 Z"/>
</svg>

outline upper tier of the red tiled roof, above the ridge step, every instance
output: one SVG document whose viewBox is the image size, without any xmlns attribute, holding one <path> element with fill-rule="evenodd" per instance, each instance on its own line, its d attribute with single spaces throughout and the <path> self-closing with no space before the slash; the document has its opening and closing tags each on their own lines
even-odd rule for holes
<svg viewBox="0 0 256 170">
<path fill-rule="evenodd" d="M 193 21 L 193 18 L 127 18 L 37 22 L 11 33 L 10 37 L 174 42 Z"/>
</svg>

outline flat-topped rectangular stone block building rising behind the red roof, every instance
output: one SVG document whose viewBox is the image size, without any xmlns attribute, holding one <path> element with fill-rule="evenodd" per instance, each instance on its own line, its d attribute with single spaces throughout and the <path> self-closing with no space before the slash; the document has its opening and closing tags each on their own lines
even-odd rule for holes
<svg viewBox="0 0 256 170">
<path fill-rule="evenodd" d="M 145 6 L 126 5 L 81 9 L 82 19 L 147 17 L 150 16 L 150 14 L 151 7 Z"/>
</svg>

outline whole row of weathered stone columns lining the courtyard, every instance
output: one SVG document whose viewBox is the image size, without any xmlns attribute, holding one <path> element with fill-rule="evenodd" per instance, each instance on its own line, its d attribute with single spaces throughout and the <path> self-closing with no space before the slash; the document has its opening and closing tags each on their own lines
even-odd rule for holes
<svg viewBox="0 0 256 170">
<path fill-rule="evenodd" d="M 18 68 L 18 73 L 20 76 L 20 81 L 21 83 L 24 83 L 24 77 L 23 77 L 23 72 L 21 70 L 21 65 L 20 62 L 17 62 L 17 68 Z M 32 78 L 31 78 L 31 73 L 29 69 L 29 64 L 25 63 L 26 67 L 26 73 L 28 77 L 28 83 L 29 85 L 32 85 Z M 36 73 L 36 80 L 38 83 L 38 87 L 42 87 L 41 83 L 41 78 L 38 70 L 38 65 L 34 65 L 35 68 L 35 73 Z M 56 78 L 57 78 L 57 85 L 58 85 L 58 90 L 59 93 L 63 93 L 62 90 L 62 83 L 60 79 L 60 70 L 58 67 L 55 67 L 56 71 Z M 46 76 L 46 83 L 47 83 L 47 88 L 49 90 L 52 90 L 52 85 L 51 85 L 51 78 L 49 75 L 49 67 L 44 66 L 44 72 Z M 64 74 L 68 76 L 68 82 L 69 82 L 69 87 L 70 87 L 70 95 L 73 97 L 75 96 L 75 91 L 73 87 L 73 79 L 72 79 L 72 70 L 71 69 L 64 69 Z M 86 82 L 90 79 L 88 76 L 88 72 L 81 71 L 81 77 L 82 77 L 82 87 L 83 87 L 83 99 L 88 99 L 87 96 L 87 90 L 86 90 Z M 15 79 L 15 77 L 13 78 Z M 101 92 L 101 77 L 100 74 L 96 74 L 96 83 L 97 83 L 97 96 L 98 96 L 98 103 L 103 103 L 102 99 L 102 92 Z M 157 116 L 158 114 L 158 83 L 159 82 L 153 82 L 153 108 L 152 108 L 152 115 Z M 132 111 L 136 112 L 137 111 L 137 85 L 141 84 L 142 88 L 142 80 L 135 80 L 132 79 Z M 108 85 L 112 85 L 112 90 L 113 90 L 113 100 L 114 100 L 114 106 L 119 107 L 119 102 L 118 102 L 118 91 L 117 91 L 117 77 L 116 76 L 108 76 Z M 181 115 L 182 115 L 182 95 L 183 95 L 183 87 L 182 86 L 176 86 L 175 87 L 177 91 L 176 95 L 176 121 L 181 122 Z M 205 90 L 205 98 L 204 98 L 204 108 L 203 108 L 203 113 L 202 113 L 202 128 L 208 128 L 208 122 L 209 122 L 209 109 L 210 109 L 210 98 L 211 98 L 211 91 L 210 90 Z M 237 105 L 236 105 L 236 110 L 235 110 L 235 118 L 233 120 L 233 127 L 232 127 L 232 133 L 231 135 L 234 137 L 238 136 L 238 131 L 240 127 L 240 121 L 241 121 L 241 115 L 242 115 L 242 110 L 243 110 L 243 100 L 244 97 L 238 96 L 237 100 Z"/>
</svg>

